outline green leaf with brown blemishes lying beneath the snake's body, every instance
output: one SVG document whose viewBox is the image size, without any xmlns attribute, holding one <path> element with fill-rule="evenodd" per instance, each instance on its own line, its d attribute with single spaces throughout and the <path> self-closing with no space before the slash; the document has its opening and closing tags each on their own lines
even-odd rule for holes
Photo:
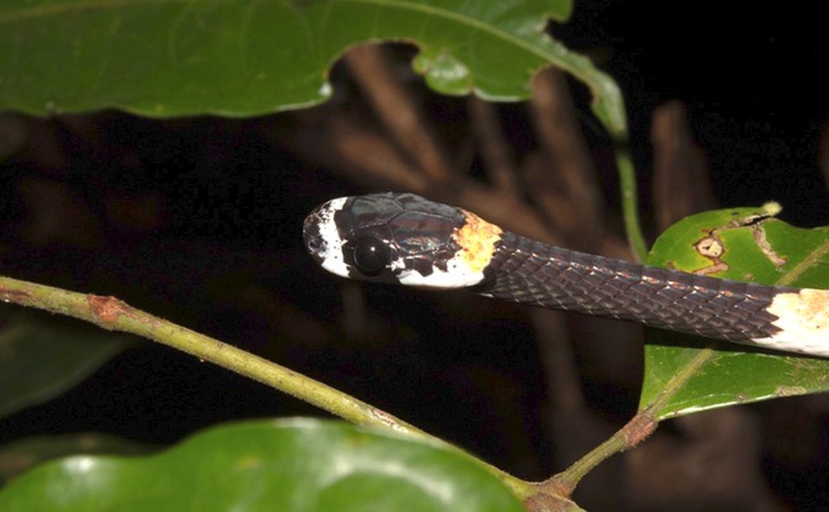
<svg viewBox="0 0 829 512">
<path fill-rule="evenodd" d="M 648 263 L 756 283 L 829 287 L 829 228 L 796 228 L 774 219 L 777 211 L 767 205 L 688 217 L 657 239 Z M 663 419 L 818 393 L 829 389 L 827 375 L 829 360 L 653 331 L 645 346 L 639 407 L 670 393 L 667 403 L 653 411 Z"/>
</svg>

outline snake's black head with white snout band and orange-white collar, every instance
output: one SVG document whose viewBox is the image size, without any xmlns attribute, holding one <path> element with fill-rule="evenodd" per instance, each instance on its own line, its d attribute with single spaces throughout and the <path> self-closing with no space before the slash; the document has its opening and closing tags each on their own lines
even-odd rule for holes
<svg viewBox="0 0 829 512">
<path fill-rule="evenodd" d="M 385 192 L 327 201 L 303 235 L 322 268 L 344 278 L 456 288 L 482 281 L 500 229 L 454 206 Z"/>
</svg>

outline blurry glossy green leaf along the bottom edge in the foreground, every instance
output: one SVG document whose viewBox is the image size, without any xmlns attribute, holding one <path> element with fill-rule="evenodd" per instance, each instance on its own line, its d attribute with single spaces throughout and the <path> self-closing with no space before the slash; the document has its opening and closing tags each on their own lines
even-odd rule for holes
<svg viewBox="0 0 829 512">
<path fill-rule="evenodd" d="M 51 461 L 0 491 L 0 510 L 523 510 L 457 452 L 344 423 L 211 427 L 151 456 Z"/>
</svg>

